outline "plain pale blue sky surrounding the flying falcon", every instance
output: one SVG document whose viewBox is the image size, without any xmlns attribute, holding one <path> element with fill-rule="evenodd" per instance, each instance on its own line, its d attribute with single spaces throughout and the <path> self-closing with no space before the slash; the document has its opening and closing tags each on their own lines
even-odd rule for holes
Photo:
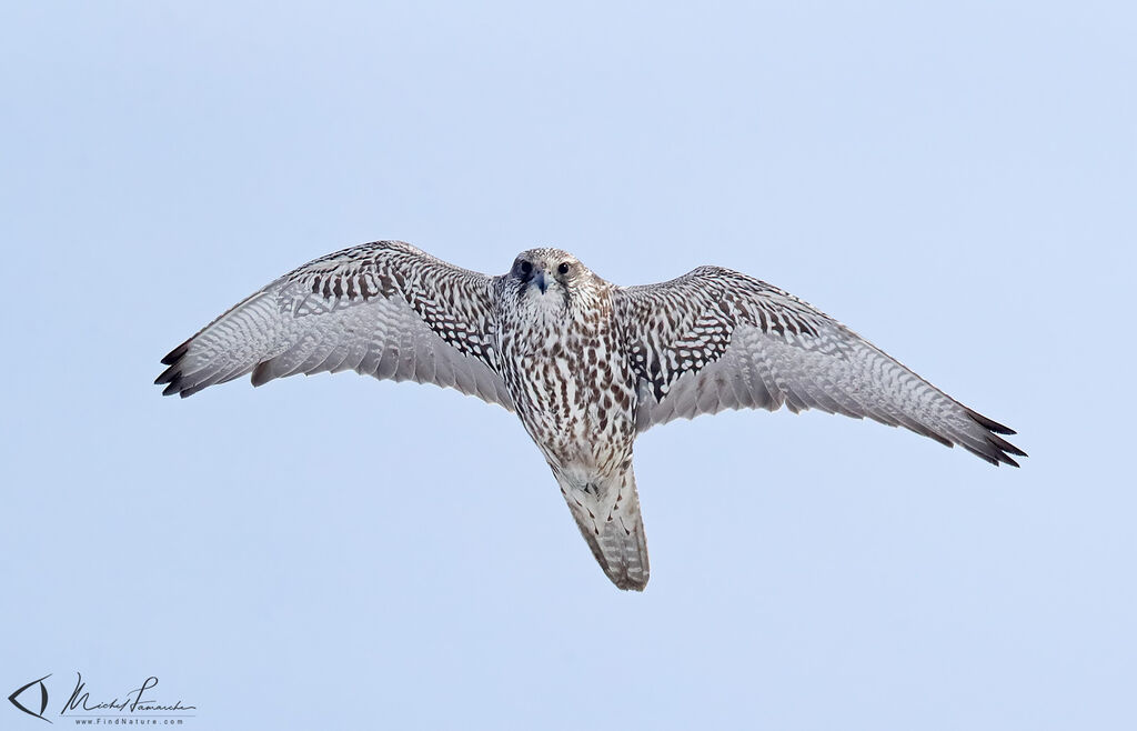
<svg viewBox="0 0 1137 731">
<path fill-rule="evenodd" d="M 81 671 L 158 675 L 199 729 L 1135 728 L 1135 38 L 1122 2 L 6 3 L 0 698 Z M 151 385 L 383 238 L 741 269 L 1031 457 L 653 430 L 630 595 L 500 408 Z"/>
</svg>

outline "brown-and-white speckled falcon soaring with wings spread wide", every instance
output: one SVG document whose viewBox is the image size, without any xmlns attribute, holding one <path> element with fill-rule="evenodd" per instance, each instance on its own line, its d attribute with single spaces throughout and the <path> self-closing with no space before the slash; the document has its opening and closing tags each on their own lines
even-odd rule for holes
<svg viewBox="0 0 1137 731">
<path fill-rule="evenodd" d="M 1013 431 L 765 282 L 703 266 L 620 286 L 559 249 L 524 251 L 499 276 L 401 241 L 345 249 L 246 298 L 163 364 L 166 396 L 354 369 L 515 412 L 604 573 L 640 591 L 632 446 L 656 424 L 785 405 L 905 426 L 994 465 L 1026 456 L 999 437 Z"/>
</svg>

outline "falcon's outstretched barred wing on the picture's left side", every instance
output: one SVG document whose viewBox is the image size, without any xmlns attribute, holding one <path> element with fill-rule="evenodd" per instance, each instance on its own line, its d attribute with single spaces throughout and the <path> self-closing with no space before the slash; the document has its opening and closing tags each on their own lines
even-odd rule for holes
<svg viewBox="0 0 1137 731">
<path fill-rule="evenodd" d="M 401 241 L 310 261 L 240 302 L 163 358 L 182 397 L 252 374 L 354 369 L 451 387 L 513 410 L 497 372 L 491 279 Z"/>
</svg>

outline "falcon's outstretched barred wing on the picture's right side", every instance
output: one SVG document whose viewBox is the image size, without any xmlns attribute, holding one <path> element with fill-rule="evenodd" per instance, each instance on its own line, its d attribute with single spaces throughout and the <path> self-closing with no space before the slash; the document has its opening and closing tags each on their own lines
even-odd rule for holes
<svg viewBox="0 0 1137 731">
<path fill-rule="evenodd" d="M 906 426 L 990 462 L 1026 456 L 1014 432 L 966 408 L 824 313 L 738 272 L 699 267 L 617 288 L 639 375 L 637 429 L 728 408 L 818 408 Z"/>
</svg>

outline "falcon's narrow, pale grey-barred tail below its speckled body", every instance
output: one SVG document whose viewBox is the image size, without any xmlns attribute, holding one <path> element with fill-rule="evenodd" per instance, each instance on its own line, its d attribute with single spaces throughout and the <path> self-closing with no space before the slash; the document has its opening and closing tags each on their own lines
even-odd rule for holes
<svg viewBox="0 0 1137 731">
<path fill-rule="evenodd" d="M 619 475 L 583 483 L 558 474 L 557 482 L 581 535 L 612 583 L 644 591 L 647 541 L 631 466 Z"/>
</svg>

